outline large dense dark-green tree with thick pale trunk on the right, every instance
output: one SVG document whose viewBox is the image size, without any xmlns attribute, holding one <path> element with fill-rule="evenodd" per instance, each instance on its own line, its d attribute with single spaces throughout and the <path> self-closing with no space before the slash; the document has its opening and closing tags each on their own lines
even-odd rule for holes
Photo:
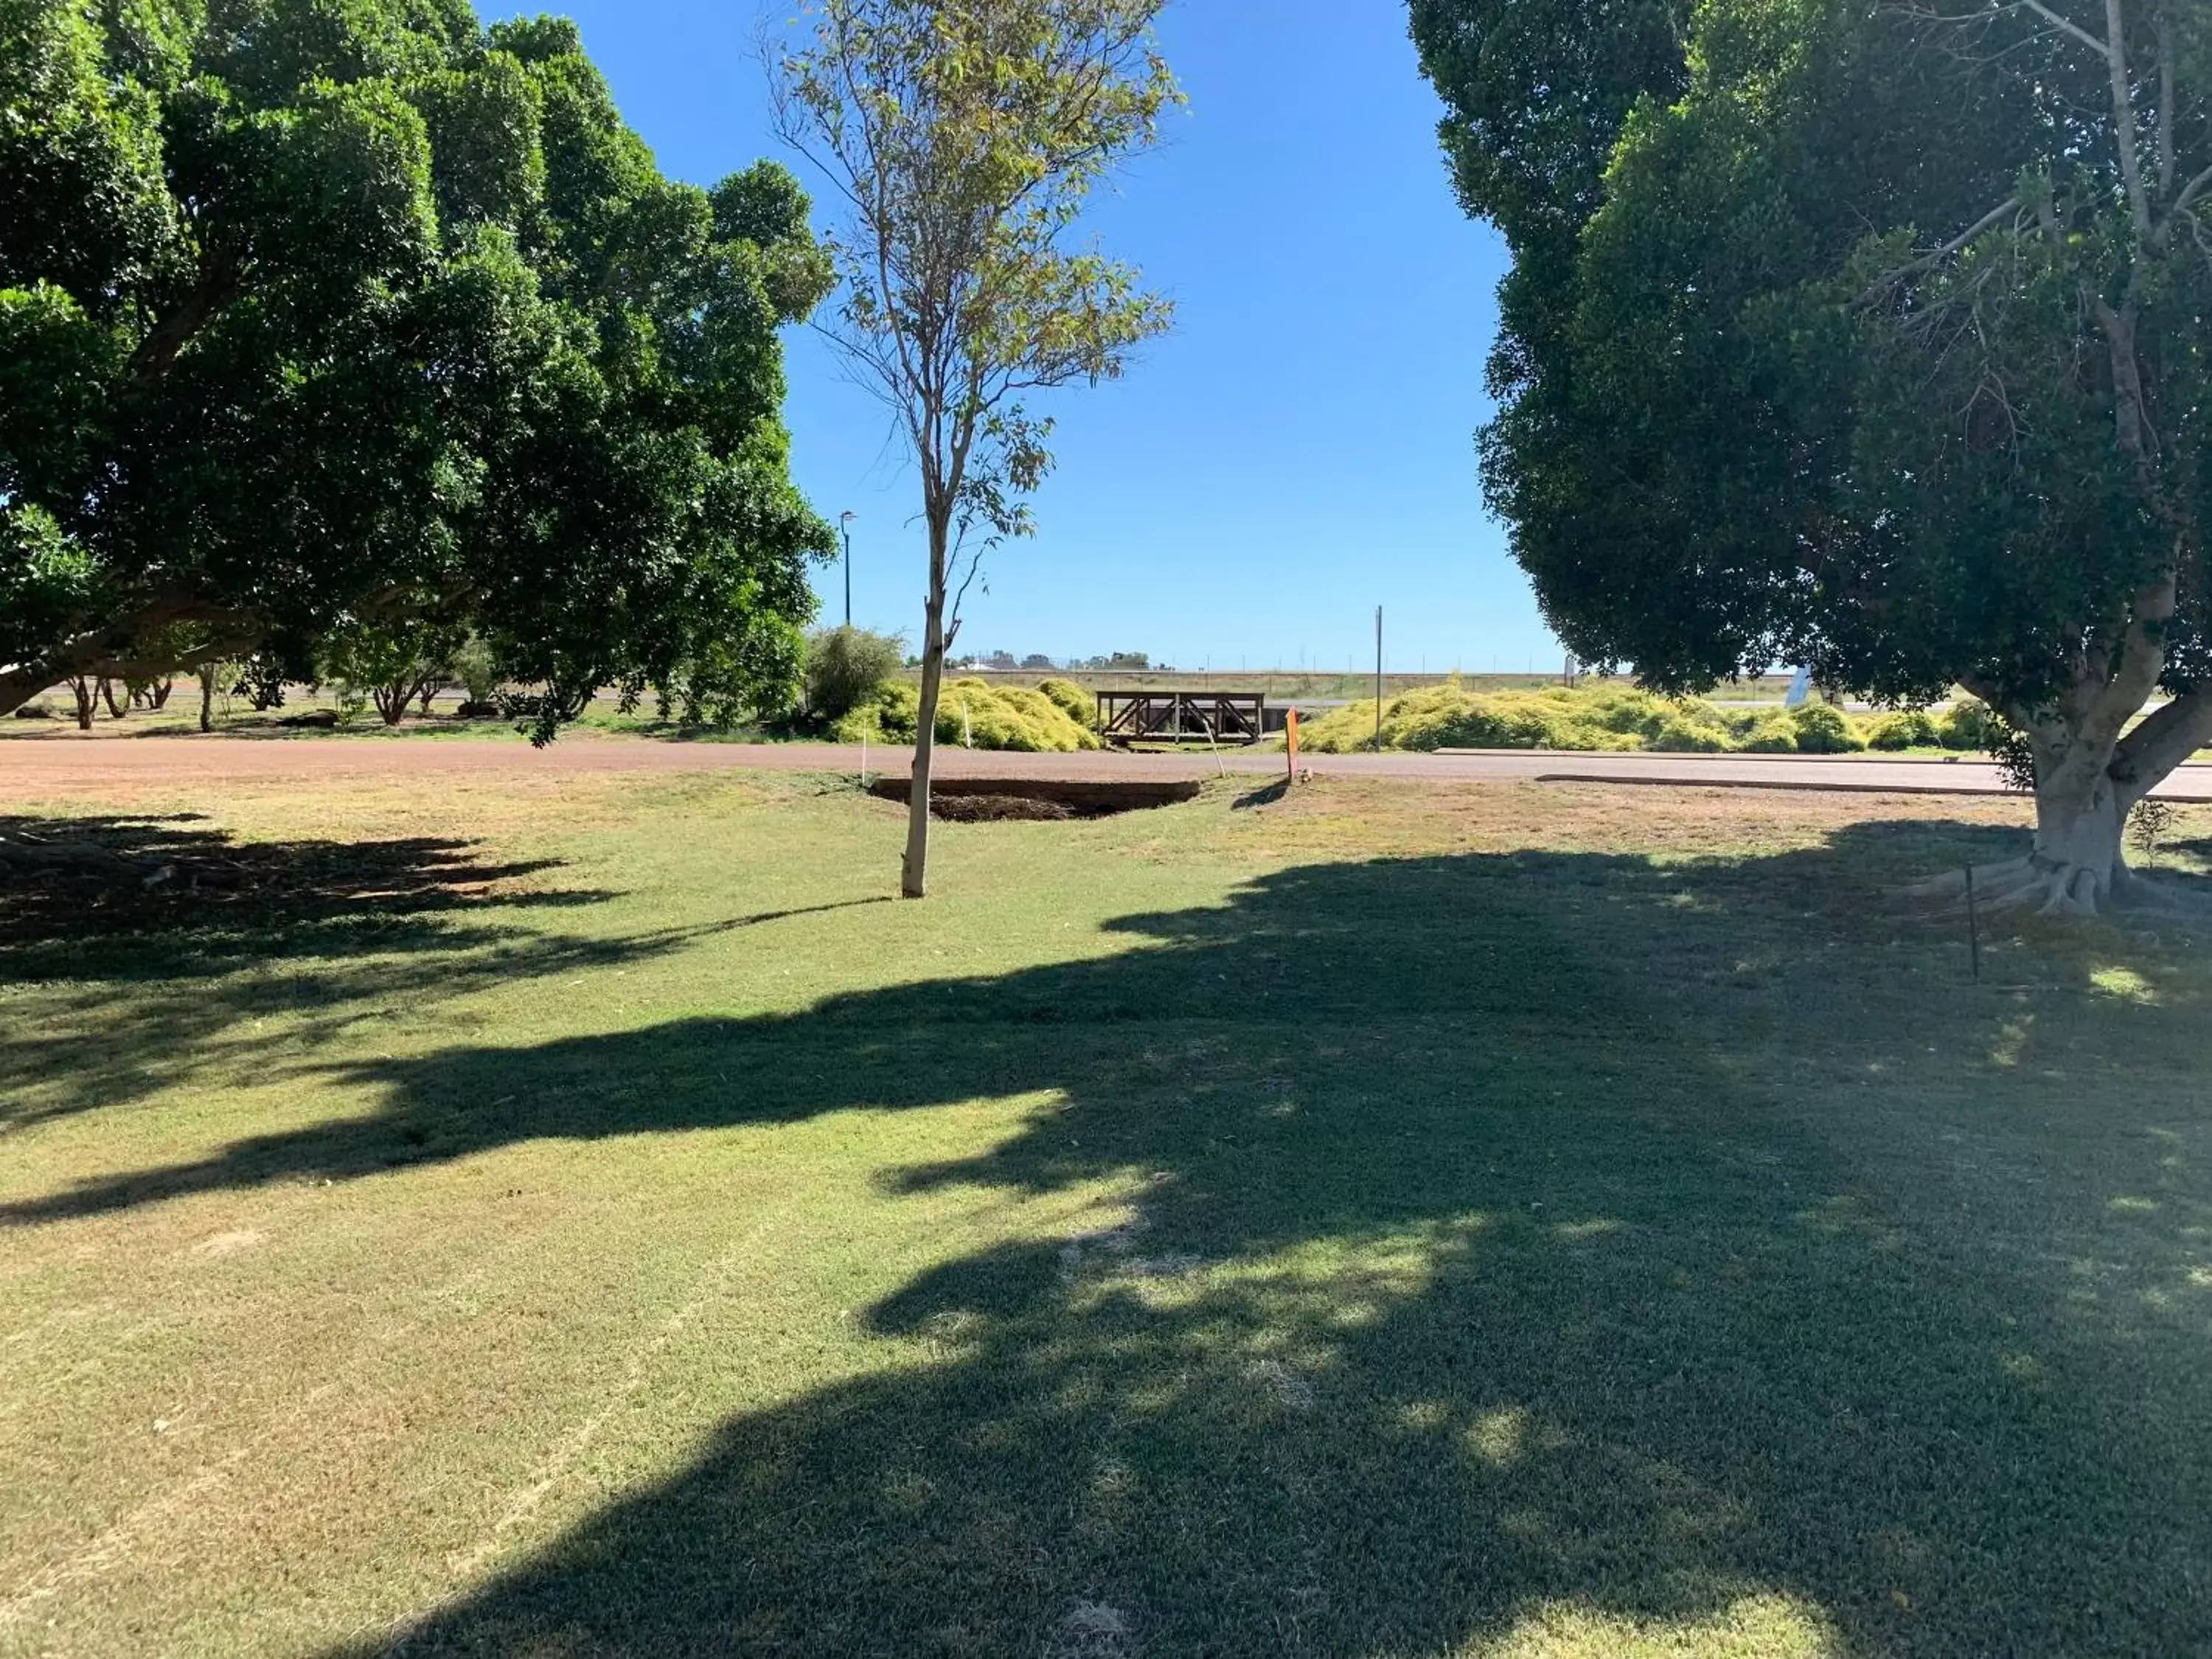
<svg viewBox="0 0 2212 1659">
<path fill-rule="evenodd" d="M 2000 896 L 2126 889 L 2128 810 L 2212 741 L 2212 9 L 1420 0 L 1416 33 L 1515 252 L 1484 478 L 1566 644 L 1663 688 L 1964 684 L 2035 774 Z"/>
</svg>

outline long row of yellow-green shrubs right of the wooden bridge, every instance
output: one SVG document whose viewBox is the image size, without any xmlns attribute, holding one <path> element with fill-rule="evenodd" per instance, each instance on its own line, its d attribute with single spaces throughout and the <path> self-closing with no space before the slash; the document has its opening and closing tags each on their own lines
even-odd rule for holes
<svg viewBox="0 0 2212 1659">
<path fill-rule="evenodd" d="M 1858 750 L 1982 750 L 1982 703 L 1854 717 L 1829 703 L 1719 708 L 1697 697 L 1657 697 L 1632 686 L 1553 686 L 1471 692 L 1458 681 L 1385 699 L 1387 750 L 1650 750 L 1674 754 L 1851 754 Z M 1376 745 L 1374 701 L 1310 723 L 1301 743 L 1318 754 Z"/>
</svg>

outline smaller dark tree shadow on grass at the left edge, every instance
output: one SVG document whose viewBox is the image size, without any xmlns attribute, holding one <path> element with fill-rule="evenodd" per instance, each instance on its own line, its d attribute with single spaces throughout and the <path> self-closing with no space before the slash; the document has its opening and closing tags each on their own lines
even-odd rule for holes
<svg viewBox="0 0 2212 1659">
<path fill-rule="evenodd" d="M 0 1133 L 327 1042 L 431 991 L 628 962 L 701 931 L 562 938 L 500 920 L 613 894 L 451 838 L 237 841 L 199 814 L 18 814 L 0 836 L 75 854 L 0 865 L 0 978 L 40 993 L 38 1020 L 0 1031 Z"/>
</svg>

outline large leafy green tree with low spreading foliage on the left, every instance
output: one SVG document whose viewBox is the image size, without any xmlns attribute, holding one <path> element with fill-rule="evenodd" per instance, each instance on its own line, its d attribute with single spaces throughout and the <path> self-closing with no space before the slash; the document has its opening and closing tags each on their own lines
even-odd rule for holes
<svg viewBox="0 0 2212 1659">
<path fill-rule="evenodd" d="M 790 175 L 661 177 L 568 22 L 0 0 L 0 710 L 425 617 L 555 712 L 781 706 L 827 283 Z"/>
</svg>

